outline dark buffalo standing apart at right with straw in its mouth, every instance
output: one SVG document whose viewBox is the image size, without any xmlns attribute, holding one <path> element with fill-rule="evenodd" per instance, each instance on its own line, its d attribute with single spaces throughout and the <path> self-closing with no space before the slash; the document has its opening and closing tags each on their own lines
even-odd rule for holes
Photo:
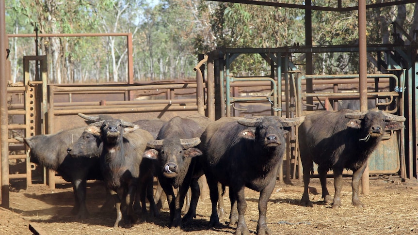
<svg viewBox="0 0 418 235">
<path fill-rule="evenodd" d="M 301 204 L 312 206 L 308 195 L 310 173 L 313 162 L 318 164 L 318 173 L 322 186 L 322 198 L 325 203 L 333 203 L 333 208 L 341 206 L 342 171 L 353 171 L 352 204 L 365 207 L 358 198 L 360 178 L 366 169 L 367 159 L 386 130 L 403 128 L 405 118 L 388 114 L 382 110 L 357 112 L 354 110 L 316 111 L 308 114 L 299 127 L 299 147 L 302 160 L 305 190 Z M 334 200 L 326 188 L 326 174 L 334 171 Z"/>
</svg>

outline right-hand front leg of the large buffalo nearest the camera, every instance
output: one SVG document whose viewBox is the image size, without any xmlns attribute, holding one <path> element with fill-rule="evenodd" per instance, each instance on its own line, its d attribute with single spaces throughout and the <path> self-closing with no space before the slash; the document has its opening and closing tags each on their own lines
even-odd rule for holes
<svg viewBox="0 0 418 235">
<path fill-rule="evenodd" d="M 270 183 L 266 188 L 260 191 L 260 198 L 258 200 L 258 223 L 257 223 L 257 235 L 272 234 L 272 231 L 267 227 L 266 214 L 267 214 L 267 202 L 272 195 L 274 186 L 276 184 L 275 179 L 270 180 Z"/>
</svg>

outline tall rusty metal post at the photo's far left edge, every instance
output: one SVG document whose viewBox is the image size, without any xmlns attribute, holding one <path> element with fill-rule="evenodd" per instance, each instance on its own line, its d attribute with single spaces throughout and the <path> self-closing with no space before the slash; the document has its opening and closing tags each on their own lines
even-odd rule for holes
<svg viewBox="0 0 418 235">
<path fill-rule="evenodd" d="M 9 129 L 7 117 L 6 76 L 6 13 L 5 1 L 0 0 L 0 146 L 1 146 L 1 206 L 10 207 L 9 202 Z"/>
</svg>

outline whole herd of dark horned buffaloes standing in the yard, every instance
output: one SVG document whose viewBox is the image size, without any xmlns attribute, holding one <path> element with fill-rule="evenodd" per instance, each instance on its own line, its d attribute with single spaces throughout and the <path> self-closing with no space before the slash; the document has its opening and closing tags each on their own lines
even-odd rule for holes
<svg viewBox="0 0 418 235">
<path fill-rule="evenodd" d="M 140 217 L 148 219 L 146 199 L 150 216 L 157 217 L 158 198 L 153 196 L 157 177 L 169 206 L 168 226 L 181 228 L 182 222 L 196 217 L 201 189 L 198 179 L 205 175 L 212 204 L 209 226 L 220 225 L 217 204 L 227 186 L 231 203 L 229 224 L 236 224 L 236 235 L 249 234 L 244 218 L 245 188 L 260 192 L 257 234 L 271 234 L 266 223 L 267 202 L 286 150 L 285 135 L 293 126 L 298 126 L 305 185 L 300 204 L 312 206 L 308 185 L 315 163 L 325 203 L 332 203 L 333 208 L 341 206 L 342 171 L 350 169 L 352 204 L 365 207 L 358 198 L 358 189 L 367 159 L 386 131 L 403 128 L 405 121 L 402 116 L 377 109 L 319 110 L 295 118 L 223 117 L 217 121 L 194 114 L 167 122 L 154 119 L 132 123 L 108 115 L 79 115 L 88 126 L 52 135 L 16 137 L 31 149 L 33 163 L 52 169 L 71 182 L 75 197 L 72 212 L 77 219 L 89 216 L 89 179 L 104 182 L 108 200 L 102 208 L 116 211 L 114 227 L 130 227 Z M 334 198 L 326 187 L 329 170 L 334 173 Z M 188 191 L 189 208 L 181 218 Z"/>
</svg>

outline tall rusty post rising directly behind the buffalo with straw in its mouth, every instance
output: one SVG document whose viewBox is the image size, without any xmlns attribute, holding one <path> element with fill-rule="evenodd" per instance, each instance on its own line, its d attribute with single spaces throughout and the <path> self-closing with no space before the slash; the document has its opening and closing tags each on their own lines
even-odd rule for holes
<svg viewBox="0 0 418 235">
<path fill-rule="evenodd" d="M 360 111 L 367 110 L 367 42 L 366 42 L 366 1 L 358 0 L 358 50 L 360 67 Z M 368 163 L 367 163 L 368 164 Z M 363 194 L 369 194 L 369 165 L 361 177 Z"/>
</svg>

